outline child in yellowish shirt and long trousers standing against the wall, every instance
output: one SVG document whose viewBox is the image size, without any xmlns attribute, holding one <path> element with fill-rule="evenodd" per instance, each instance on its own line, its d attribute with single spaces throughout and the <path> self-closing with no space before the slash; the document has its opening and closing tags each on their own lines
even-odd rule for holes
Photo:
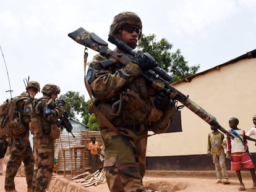
<svg viewBox="0 0 256 192">
<path fill-rule="evenodd" d="M 208 156 L 212 156 L 215 164 L 215 172 L 217 175 L 217 183 L 228 184 L 228 172 L 226 169 L 226 158 L 224 148 L 222 146 L 224 134 L 218 131 L 214 126 L 211 126 L 211 133 L 208 134 Z M 222 170 L 222 173 L 221 173 Z M 221 179 L 222 178 L 222 179 Z"/>
</svg>

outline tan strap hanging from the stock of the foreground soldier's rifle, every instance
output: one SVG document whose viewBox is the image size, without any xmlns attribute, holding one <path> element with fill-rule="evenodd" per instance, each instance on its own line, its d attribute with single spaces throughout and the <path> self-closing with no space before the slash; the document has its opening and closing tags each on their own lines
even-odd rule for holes
<svg viewBox="0 0 256 192">
<path fill-rule="evenodd" d="M 85 54 L 83 55 L 83 67 L 84 67 L 84 71 L 86 71 L 86 65 L 87 65 L 87 57 L 88 57 L 88 53 L 85 52 Z M 85 72 L 86 75 L 86 72 Z M 86 78 L 85 79 L 85 87 L 88 91 L 88 94 L 90 95 L 91 101 L 92 101 L 92 109 L 93 112 L 98 116 L 98 118 L 100 118 L 101 120 L 103 120 L 103 122 L 105 123 L 106 127 L 108 127 L 110 130 L 112 131 L 116 131 L 117 133 L 120 133 L 116 127 L 114 127 L 114 125 L 109 122 L 108 119 L 106 119 L 106 117 L 97 109 L 97 107 L 95 106 L 94 102 L 93 102 L 93 95 L 92 95 L 92 90 L 90 88 L 90 85 L 88 84 L 88 81 Z"/>
</svg>

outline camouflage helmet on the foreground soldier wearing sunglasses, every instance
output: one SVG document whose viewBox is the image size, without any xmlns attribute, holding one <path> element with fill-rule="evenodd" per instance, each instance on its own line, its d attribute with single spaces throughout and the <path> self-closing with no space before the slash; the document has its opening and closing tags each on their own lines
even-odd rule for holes
<svg viewBox="0 0 256 192">
<path fill-rule="evenodd" d="M 142 21 L 140 20 L 140 17 L 134 12 L 126 11 L 114 16 L 113 22 L 109 28 L 108 36 L 116 35 L 124 25 L 134 25 L 142 30 Z M 141 37 L 142 33 L 140 33 L 139 40 Z"/>
</svg>

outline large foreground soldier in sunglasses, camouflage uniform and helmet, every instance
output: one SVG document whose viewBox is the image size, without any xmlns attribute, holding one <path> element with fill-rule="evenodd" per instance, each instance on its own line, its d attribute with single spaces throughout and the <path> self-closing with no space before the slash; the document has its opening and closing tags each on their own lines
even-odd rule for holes
<svg viewBox="0 0 256 192">
<path fill-rule="evenodd" d="M 139 16 L 133 12 L 117 14 L 109 35 L 134 49 L 142 36 Z M 114 51 L 122 52 L 118 48 Z M 109 58 L 100 54 L 94 56 L 86 79 L 96 98 L 95 106 L 115 128 L 106 127 L 105 120 L 98 119 L 105 144 L 104 167 L 109 190 L 146 191 L 142 178 L 148 130 L 166 131 L 177 109 L 165 93 L 155 93 L 142 78 L 143 71 L 156 66 L 148 57 L 141 54 L 137 64 L 111 65 L 104 69 L 100 61 L 106 59 Z"/>
</svg>

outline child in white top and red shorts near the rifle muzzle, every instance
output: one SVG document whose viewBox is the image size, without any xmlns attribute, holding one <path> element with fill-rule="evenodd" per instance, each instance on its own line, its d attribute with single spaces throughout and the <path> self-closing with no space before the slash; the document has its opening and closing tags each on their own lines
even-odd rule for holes
<svg viewBox="0 0 256 192">
<path fill-rule="evenodd" d="M 232 139 L 229 135 L 227 136 L 228 141 L 228 148 L 227 154 L 229 154 L 230 161 L 231 161 L 231 170 L 236 171 L 236 175 L 240 182 L 240 187 L 238 190 L 243 191 L 245 190 L 244 183 L 242 182 L 241 176 L 241 168 L 242 164 L 244 165 L 245 169 L 250 170 L 250 175 L 252 176 L 252 181 L 254 182 L 253 189 L 256 189 L 256 176 L 254 170 L 254 164 L 250 157 L 247 141 L 245 140 L 245 131 L 237 128 L 239 120 L 236 117 L 232 117 L 229 119 L 229 130 L 230 133 L 233 133 L 235 136 Z"/>
</svg>

